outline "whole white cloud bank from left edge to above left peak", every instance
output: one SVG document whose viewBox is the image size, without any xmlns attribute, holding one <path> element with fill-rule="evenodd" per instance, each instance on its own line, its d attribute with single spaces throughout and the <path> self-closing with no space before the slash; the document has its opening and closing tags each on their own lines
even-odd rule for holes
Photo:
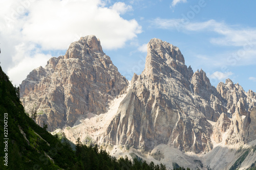
<svg viewBox="0 0 256 170">
<path fill-rule="evenodd" d="M 106 7 L 100 0 L 3 0 L 0 6 L 2 67 L 8 70 L 11 79 L 17 68 L 18 75 L 27 75 L 29 69 L 45 65 L 42 61 L 51 57 L 44 52 L 67 50 L 71 42 L 92 34 L 100 39 L 103 49 L 123 47 L 142 31 L 135 19 L 120 16 L 131 10 L 125 3 Z M 25 59 L 33 61 L 26 63 L 29 69 L 20 65 L 25 64 Z"/>
</svg>

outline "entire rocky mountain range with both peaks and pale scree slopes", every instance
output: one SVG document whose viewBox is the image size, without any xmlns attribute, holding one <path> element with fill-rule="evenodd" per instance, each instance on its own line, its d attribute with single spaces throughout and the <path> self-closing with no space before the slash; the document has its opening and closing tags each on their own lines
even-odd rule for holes
<svg viewBox="0 0 256 170">
<path fill-rule="evenodd" d="M 36 123 L 111 155 L 193 169 L 256 164 L 256 93 L 230 79 L 217 87 L 185 65 L 179 48 L 153 38 L 145 68 L 123 77 L 99 39 L 73 42 L 64 56 L 30 72 L 20 100 Z"/>
</svg>

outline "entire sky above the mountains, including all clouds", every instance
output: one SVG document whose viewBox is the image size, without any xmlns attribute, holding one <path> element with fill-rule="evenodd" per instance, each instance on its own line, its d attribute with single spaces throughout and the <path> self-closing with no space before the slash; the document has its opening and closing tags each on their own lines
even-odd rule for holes
<svg viewBox="0 0 256 170">
<path fill-rule="evenodd" d="M 90 34 L 127 79 L 144 69 L 145 44 L 160 38 L 180 48 L 185 64 L 211 84 L 230 78 L 256 91 L 255 1 L 3 0 L 1 66 L 15 84 L 64 55 Z"/>
</svg>

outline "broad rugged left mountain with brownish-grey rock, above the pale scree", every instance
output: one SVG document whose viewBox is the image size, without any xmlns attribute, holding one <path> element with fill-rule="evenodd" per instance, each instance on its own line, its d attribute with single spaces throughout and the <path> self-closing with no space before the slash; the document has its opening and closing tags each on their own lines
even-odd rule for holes
<svg viewBox="0 0 256 170">
<path fill-rule="evenodd" d="M 65 56 L 51 58 L 20 85 L 27 112 L 37 110 L 37 124 L 48 130 L 73 126 L 79 117 L 108 110 L 108 103 L 129 82 L 120 75 L 95 36 L 73 42 Z"/>
</svg>

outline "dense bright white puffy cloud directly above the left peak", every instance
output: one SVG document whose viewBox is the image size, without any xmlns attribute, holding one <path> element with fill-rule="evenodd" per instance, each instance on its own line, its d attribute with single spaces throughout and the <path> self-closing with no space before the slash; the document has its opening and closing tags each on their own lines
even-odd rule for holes
<svg viewBox="0 0 256 170">
<path fill-rule="evenodd" d="M 136 20 L 125 20 L 119 15 L 130 6 L 116 3 L 110 9 L 99 7 L 99 4 L 99 0 L 70 0 L 65 5 L 59 0 L 35 2 L 22 33 L 26 39 L 46 50 L 67 48 L 78 40 L 77 34 L 93 34 L 101 40 L 103 48 L 119 48 L 141 33 Z"/>
</svg>

